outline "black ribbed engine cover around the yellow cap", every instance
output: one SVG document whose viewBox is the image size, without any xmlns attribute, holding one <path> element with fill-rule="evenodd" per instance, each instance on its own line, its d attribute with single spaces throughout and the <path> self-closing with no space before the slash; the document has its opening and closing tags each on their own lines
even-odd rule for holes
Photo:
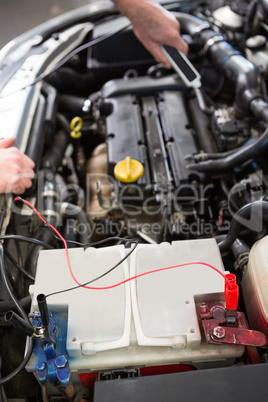
<svg viewBox="0 0 268 402">
<path fill-rule="evenodd" d="M 200 174 L 187 168 L 186 157 L 198 150 L 179 78 L 113 80 L 105 84 L 102 95 L 110 175 L 118 162 L 130 156 L 144 166 L 138 184 L 155 193 L 200 182 Z"/>
</svg>

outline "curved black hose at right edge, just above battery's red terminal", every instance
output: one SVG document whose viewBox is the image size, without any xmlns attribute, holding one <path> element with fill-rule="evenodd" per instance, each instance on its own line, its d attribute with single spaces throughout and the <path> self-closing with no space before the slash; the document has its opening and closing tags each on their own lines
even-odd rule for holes
<svg viewBox="0 0 268 402">
<path fill-rule="evenodd" d="M 218 244 L 220 251 L 227 251 L 239 236 L 241 227 L 260 232 L 263 220 L 268 220 L 268 202 L 254 201 L 240 208 L 234 215 L 229 231 Z"/>
</svg>

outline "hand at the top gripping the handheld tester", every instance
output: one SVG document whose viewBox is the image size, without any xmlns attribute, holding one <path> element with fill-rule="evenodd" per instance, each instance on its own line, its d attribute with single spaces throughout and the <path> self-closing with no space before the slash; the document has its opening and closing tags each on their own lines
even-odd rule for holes
<svg viewBox="0 0 268 402">
<path fill-rule="evenodd" d="M 113 0 L 118 9 L 132 23 L 136 37 L 143 43 L 155 60 L 166 68 L 171 64 L 161 50 L 161 45 L 170 45 L 185 55 L 188 45 L 180 36 L 177 19 L 160 4 L 152 0 Z"/>
</svg>

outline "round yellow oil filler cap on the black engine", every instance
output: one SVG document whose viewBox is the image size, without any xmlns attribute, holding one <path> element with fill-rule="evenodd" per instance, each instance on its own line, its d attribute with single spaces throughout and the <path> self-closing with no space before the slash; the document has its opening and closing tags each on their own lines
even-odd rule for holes
<svg viewBox="0 0 268 402">
<path fill-rule="evenodd" d="M 144 168 L 141 162 L 127 156 L 123 161 L 118 162 L 114 167 L 114 175 L 117 180 L 123 183 L 133 183 L 143 175 Z"/>
</svg>

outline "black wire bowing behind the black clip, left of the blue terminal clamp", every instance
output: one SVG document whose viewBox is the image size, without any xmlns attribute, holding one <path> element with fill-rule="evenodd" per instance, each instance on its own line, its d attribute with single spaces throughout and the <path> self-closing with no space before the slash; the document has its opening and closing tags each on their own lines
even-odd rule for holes
<svg viewBox="0 0 268 402">
<path fill-rule="evenodd" d="M 4 263 L 4 247 L 3 244 L 0 242 L 0 272 L 2 274 L 2 278 L 3 278 L 3 282 L 6 286 L 6 289 L 9 293 L 9 296 L 11 298 L 11 300 L 14 302 L 18 312 L 20 313 L 21 317 L 28 321 L 28 317 L 27 314 L 25 313 L 25 311 L 23 310 L 23 308 L 19 305 L 17 299 L 15 298 L 10 285 L 8 283 L 7 280 L 7 276 L 6 276 L 6 272 L 5 272 L 5 263 Z M 0 386 L 2 386 L 3 384 L 6 384 L 8 381 L 12 380 L 14 377 L 16 377 L 16 375 L 18 375 L 21 370 L 24 369 L 24 367 L 26 366 L 26 364 L 28 363 L 28 361 L 30 360 L 30 357 L 32 355 L 32 351 L 33 351 L 33 339 L 31 337 L 29 337 L 29 342 L 28 342 L 28 348 L 27 348 L 27 352 L 26 355 L 24 356 L 24 359 L 22 360 L 22 362 L 19 364 L 19 366 L 12 371 L 10 374 L 8 374 L 6 377 L 1 378 L 0 379 Z"/>
</svg>

